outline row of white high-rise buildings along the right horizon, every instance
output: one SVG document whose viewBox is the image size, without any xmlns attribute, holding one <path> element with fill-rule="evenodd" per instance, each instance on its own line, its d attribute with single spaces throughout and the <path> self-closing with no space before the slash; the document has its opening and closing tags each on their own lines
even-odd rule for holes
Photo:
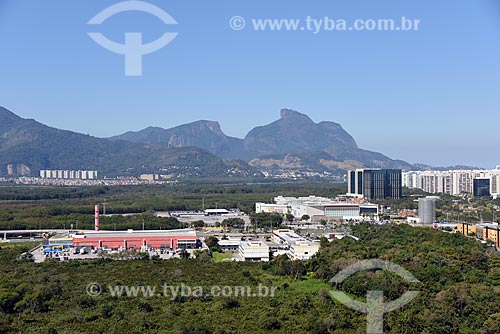
<svg viewBox="0 0 500 334">
<path fill-rule="evenodd" d="M 483 181 L 474 181 L 483 180 Z M 487 181 L 484 181 L 487 180 Z M 486 194 L 486 182 L 489 194 Z M 402 174 L 404 187 L 417 188 L 431 194 L 473 194 L 474 188 L 483 196 L 500 194 L 500 166 L 493 170 L 410 171 Z M 476 186 L 476 187 L 475 187 Z"/>
</svg>

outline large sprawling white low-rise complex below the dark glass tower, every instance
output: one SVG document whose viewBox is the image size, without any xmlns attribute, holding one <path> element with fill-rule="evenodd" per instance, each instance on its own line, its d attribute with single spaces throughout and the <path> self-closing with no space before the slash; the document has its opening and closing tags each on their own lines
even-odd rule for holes
<svg viewBox="0 0 500 334">
<path fill-rule="evenodd" d="M 257 213 L 292 214 L 300 218 L 310 217 L 312 222 L 338 220 L 365 220 L 378 216 L 378 206 L 365 201 L 334 200 L 326 197 L 282 197 L 274 198 L 274 204 L 256 203 Z"/>
</svg>

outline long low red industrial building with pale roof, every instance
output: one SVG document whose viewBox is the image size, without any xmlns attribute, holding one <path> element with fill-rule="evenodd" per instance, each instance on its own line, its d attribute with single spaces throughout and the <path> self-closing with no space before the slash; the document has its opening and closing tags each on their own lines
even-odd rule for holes
<svg viewBox="0 0 500 334">
<path fill-rule="evenodd" d="M 193 249 L 197 247 L 193 229 L 160 231 L 95 231 L 73 236 L 73 247 L 108 249 Z"/>
</svg>

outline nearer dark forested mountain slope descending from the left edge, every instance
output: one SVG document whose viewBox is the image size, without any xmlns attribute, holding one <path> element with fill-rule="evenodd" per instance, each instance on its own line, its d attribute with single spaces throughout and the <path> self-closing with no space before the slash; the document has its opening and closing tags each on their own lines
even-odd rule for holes
<svg viewBox="0 0 500 334">
<path fill-rule="evenodd" d="M 262 176 L 243 161 L 220 158 L 202 148 L 96 138 L 23 119 L 2 107 L 0 131 L 0 176 L 36 176 L 41 169 L 97 170 L 101 176 Z"/>
</svg>

